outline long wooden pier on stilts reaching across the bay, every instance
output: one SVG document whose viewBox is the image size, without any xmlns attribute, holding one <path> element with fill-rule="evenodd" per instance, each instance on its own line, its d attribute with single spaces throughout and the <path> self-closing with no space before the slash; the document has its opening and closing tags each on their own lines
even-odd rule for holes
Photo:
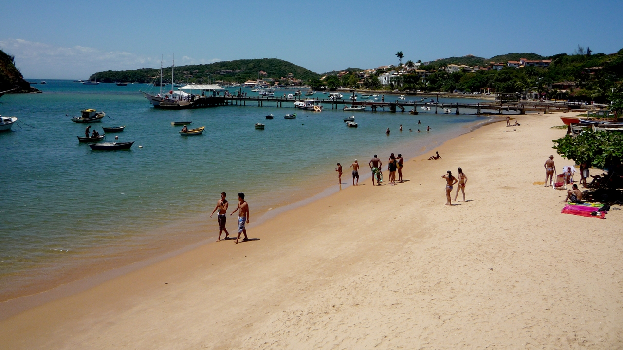
<svg viewBox="0 0 623 350">
<path fill-rule="evenodd" d="M 160 103 L 158 108 L 168 110 L 182 110 L 191 108 L 208 108 L 216 106 L 226 105 L 239 105 L 239 106 L 258 106 L 258 107 L 276 107 L 283 108 L 283 103 L 286 103 L 286 108 L 293 107 L 293 103 L 300 100 L 306 100 L 307 98 L 284 98 L 284 97 L 196 97 L 193 101 L 178 101 Z M 521 103 L 444 103 L 444 102 L 413 102 L 396 100 L 394 102 L 384 101 L 371 101 L 371 100 L 334 100 L 329 98 L 309 98 L 314 100 L 315 105 L 321 105 L 323 108 L 331 106 L 331 110 L 340 110 L 343 106 L 366 106 L 371 111 L 389 111 L 390 113 L 396 113 L 397 111 L 417 111 L 421 112 L 421 107 L 430 107 L 428 113 L 444 113 L 444 110 L 450 109 L 451 113 L 455 115 L 460 114 L 503 114 L 506 112 L 515 112 L 517 114 L 525 114 L 526 111 L 536 111 L 549 113 L 549 111 L 569 111 L 566 107 L 553 107 L 553 106 L 525 106 Z M 288 105 L 292 103 L 292 105 Z M 446 113 L 447 114 L 447 113 Z"/>
</svg>

